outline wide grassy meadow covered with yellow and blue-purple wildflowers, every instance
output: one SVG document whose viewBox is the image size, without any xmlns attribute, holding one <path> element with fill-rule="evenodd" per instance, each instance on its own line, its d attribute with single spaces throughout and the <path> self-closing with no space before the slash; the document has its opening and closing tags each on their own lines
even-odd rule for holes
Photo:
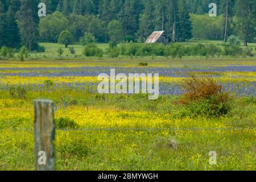
<svg viewBox="0 0 256 182">
<path fill-rule="evenodd" d="M 46 47 L 45 60 L 0 60 L 0 170 L 34 170 L 32 101 L 38 98 L 55 102 L 56 122 L 75 124 L 57 127 L 58 170 L 256 169 L 255 57 L 58 60 L 49 57 L 61 45 L 41 45 Z M 74 47 L 81 54 L 82 47 Z M 159 99 L 98 94 L 97 76 L 110 68 L 126 74 L 159 73 Z M 177 101 L 188 72 L 223 86 L 232 97 L 228 114 L 184 115 L 185 107 Z M 12 93 L 12 86 L 26 91 Z M 217 152 L 217 165 L 209 164 L 210 151 Z"/>
</svg>

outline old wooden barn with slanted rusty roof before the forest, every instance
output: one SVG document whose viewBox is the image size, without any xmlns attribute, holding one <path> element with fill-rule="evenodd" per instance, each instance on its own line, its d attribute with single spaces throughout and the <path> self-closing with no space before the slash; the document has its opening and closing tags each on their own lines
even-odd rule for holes
<svg viewBox="0 0 256 182">
<path fill-rule="evenodd" d="M 167 45 L 169 43 L 169 39 L 164 31 L 154 31 L 145 42 L 145 44 L 151 43 L 162 43 L 164 45 Z"/>
</svg>

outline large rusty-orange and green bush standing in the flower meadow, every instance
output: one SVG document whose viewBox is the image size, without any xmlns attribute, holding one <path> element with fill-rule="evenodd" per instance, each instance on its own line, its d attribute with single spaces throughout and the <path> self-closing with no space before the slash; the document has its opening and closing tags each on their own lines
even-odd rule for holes
<svg viewBox="0 0 256 182">
<path fill-rule="evenodd" d="M 232 109 L 232 98 L 213 78 L 189 75 L 182 87 L 185 93 L 180 99 L 184 105 L 181 117 L 221 117 Z"/>
</svg>

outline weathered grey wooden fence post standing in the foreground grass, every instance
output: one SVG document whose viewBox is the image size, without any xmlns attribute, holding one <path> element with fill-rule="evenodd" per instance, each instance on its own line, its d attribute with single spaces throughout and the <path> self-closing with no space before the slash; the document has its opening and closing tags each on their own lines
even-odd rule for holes
<svg viewBox="0 0 256 182">
<path fill-rule="evenodd" d="M 54 104 L 51 100 L 35 100 L 35 167 L 37 171 L 55 170 Z"/>
</svg>

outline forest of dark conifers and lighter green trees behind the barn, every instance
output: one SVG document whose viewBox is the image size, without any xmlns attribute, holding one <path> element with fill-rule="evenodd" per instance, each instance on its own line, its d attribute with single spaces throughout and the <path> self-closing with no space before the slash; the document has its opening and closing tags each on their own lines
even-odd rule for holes
<svg viewBox="0 0 256 182">
<path fill-rule="evenodd" d="M 39 2 L 46 3 L 46 18 L 38 17 Z M 210 0 L 0 0 L 0 47 L 58 42 L 62 31 L 73 41 L 92 34 L 97 42 L 144 42 L 164 30 L 172 42 L 191 38 L 226 41 L 239 36 L 255 42 L 254 0 L 214 0 L 217 17 L 209 17 Z M 67 35 L 67 32 L 65 32 Z"/>
</svg>

